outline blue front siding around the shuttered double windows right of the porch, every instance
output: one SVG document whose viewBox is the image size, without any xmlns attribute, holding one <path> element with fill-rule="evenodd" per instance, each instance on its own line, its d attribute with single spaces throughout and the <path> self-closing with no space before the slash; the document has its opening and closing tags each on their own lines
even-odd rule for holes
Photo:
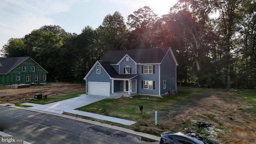
<svg viewBox="0 0 256 144">
<path fill-rule="evenodd" d="M 142 74 L 142 65 L 137 66 L 137 93 L 138 94 L 149 94 L 149 95 L 159 95 L 159 66 L 155 65 L 155 73 L 154 74 Z M 152 80 L 155 81 L 155 89 L 154 90 L 148 90 L 148 89 L 142 89 L 142 80 Z"/>
</svg>

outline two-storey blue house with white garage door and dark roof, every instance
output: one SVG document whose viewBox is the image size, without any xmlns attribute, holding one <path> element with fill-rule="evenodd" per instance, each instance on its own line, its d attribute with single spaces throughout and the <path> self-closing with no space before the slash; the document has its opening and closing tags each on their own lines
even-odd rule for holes
<svg viewBox="0 0 256 144">
<path fill-rule="evenodd" d="M 176 93 L 178 63 L 171 48 L 107 52 L 84 77 L 86 94 L 162 96 Z"/>
</svg>

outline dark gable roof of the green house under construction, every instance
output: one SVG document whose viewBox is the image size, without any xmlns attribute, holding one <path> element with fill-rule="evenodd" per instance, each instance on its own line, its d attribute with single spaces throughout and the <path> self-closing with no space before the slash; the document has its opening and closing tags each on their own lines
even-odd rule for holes
<svg viewBox="0 0 256 144">
<path fill-rule="evenodd" d="M 14 68 L 16 68 L 18 65 L 20 65 L 22 62 L 24 62 L 28 58 L 30 58 L 30 57 L 26 56 L 26 57 L 14 57 L 14 58 L 0 58 L 0 62 L 2 64 L 2 67 L 0 68 L 0 74 L 8 74 L 10 71 L 12 71 Z M 30 59 L 33 60 L 32 58 L 30 58 Z M 35 63 L 38 64 L 37 62 L 35 62 Z M 40 65 L 38 64 L 38 66 L 40 66 Z M 42 68 L 42 69 L 44 70 L 44 68 Z M 46 71 L 46 70 L 44 70 L 44 71 Z M 46 73 L 48 73 L 48 72 L 46 71 Z"/>
</svg>

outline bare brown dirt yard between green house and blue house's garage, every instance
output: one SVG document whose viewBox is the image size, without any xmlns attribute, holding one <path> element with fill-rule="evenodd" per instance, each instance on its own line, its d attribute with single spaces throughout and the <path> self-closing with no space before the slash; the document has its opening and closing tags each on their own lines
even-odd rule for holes
<svg viewBox="0 0 256 144">
<path fill-rule="evenodd" d="M 0 102 L 2 103 L 24 103 L 34 98 L 34 94 L 47 94 L 47 96 L 58 96 L 72 92 L 85 93 L 84 84 L 73 84 L 64 82 L 48 82 L 47 84 L 34 85 L 27 88 L 11 88 L 0 86 Z M 26 100 L 22 100 L 26 99 Z"/>
</svg>

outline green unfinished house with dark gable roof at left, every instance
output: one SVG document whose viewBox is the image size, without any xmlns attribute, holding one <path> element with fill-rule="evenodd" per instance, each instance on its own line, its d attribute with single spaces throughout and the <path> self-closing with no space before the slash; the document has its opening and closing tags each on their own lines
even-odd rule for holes
<svg viewBox="0 0 256 144">
<path fill-rule="evenodd" d="M 48 73 L 30 57 L 0 58 L 0 85 L 46 84 Z"/>
</svg>

